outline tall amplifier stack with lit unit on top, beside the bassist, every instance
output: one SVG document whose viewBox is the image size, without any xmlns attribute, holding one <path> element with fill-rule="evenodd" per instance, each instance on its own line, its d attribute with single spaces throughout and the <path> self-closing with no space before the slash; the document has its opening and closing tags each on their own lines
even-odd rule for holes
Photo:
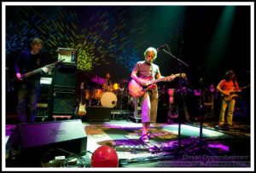
<svg viewBox="0 0 256 173">
<path fill-rule="evenodd" d="M 58 60 L 62 65 L 55 68 L 52 89 L 53 118 L 73 117 L 77 72 L 77 50 L 58 48 Z"/>
</svg>

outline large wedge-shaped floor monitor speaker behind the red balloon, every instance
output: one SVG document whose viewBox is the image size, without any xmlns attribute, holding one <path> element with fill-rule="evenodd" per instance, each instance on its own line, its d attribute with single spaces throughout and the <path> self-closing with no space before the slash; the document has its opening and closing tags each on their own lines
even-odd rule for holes
<svg viewBox="0 0 256 173">
<path fill-rule="evenodd" d="M 87 136 L 80 119 L 20 124 L 20 166 L 42 166 L 56 156 L 86 151 Z"/>
</svg>

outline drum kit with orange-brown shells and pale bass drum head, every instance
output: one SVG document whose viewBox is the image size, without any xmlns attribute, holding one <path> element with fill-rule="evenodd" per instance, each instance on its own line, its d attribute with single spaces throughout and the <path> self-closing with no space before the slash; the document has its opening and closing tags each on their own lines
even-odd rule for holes
<svg viewBox="0 0 256 173">
<path fill-rule="evenodd" d="M 124 92 L 127 90 L 125 88 L 127 87 L 128 80 L 123 79 L 120 83 L 114 83 L 111 86 L 107 86 L 105 79 L 98 76 L 90 78 L 90 80 L 96 84 L 96 87 L 84 90 L 84 99 L 89 101 L 89 106 L 122 108 L 121 100 L 124 95 L 127 95 Z"/>
</svg>

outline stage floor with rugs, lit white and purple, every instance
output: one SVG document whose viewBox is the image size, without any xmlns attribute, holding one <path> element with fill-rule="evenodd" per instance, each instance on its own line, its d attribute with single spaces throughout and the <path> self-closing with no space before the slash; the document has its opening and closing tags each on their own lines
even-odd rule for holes
<svg viewBox="0 0 256 173">
<path fill-rule="evenodd" d="M 83 123 L 87 136 L 85 167 L 91 167 L 91 156 L 98 147 L 107 145 L 118 154 L 119 167 L 239 167 L 249 168 L 250 126 L 234 124 L 218 128 L 216 123 L 205 122 L 200 138 L 198 123 L 151 124 L 154 139 L 144 144 L 139 140 L 142 124 L 126 120 Z M 6 125 L 5 142 L 15 125 Z"/>
</svg>

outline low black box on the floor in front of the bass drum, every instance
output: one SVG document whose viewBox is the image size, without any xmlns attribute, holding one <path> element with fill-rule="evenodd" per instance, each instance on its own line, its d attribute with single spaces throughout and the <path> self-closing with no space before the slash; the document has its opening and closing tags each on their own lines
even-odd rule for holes
<svg viewBox="0 0 256 173">
<path fill-rule="evenodd" d="M 89 122 L 106 122 L 110 121 L 110 118 L 110 107 L 86 107 L 86 116 L 84 116 L 82 120 Z"/>
</svg>

